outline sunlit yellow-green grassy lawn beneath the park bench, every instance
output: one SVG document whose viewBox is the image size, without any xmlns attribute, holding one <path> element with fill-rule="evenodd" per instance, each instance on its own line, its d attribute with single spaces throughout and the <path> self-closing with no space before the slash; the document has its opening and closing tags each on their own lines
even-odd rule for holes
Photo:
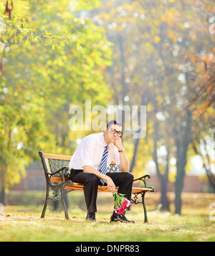
<svg viewBox="0 0 215 256">
<path fill-rule="evenodd" d="M 51 204 L 44 219 L 40 219 L 42 204 L 38 202 L 36 207 L 5 206 L 4 217 L 0 219 L 0 241 L 215 241 L 215 221 L 209 219 L 209 204 L 215 202 L 214 194 L 184 194 L 181 216 L 159 212 L 156 209 L 158 196 L 156 193 L 148 195 L 149 222 L 146 224 L 140 205 L 133 206 L 126 214 L 136 224 L 110 223 L 112 211 L 108 209 L 112 209 L 112 200 L 106 193 L 98 196 L 100 204 L 95 223 L 85 222 L 86 212 L 78 202 L 78 197 L 82 201 L 79 193 L 75 195 L 77 202 L 70 206 L 70 220 L 64 218 L 60 206 L 59 211 L 54 212 Z"/>
</svg>

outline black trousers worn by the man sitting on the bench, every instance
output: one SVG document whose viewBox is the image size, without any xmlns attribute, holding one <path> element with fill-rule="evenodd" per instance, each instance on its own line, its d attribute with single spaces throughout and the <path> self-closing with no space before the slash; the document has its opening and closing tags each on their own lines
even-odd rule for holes
<svg viewBox="0 0 215 256">
<path fill-rule="evenodd" d="M 133 186 L 133 174 L 129 172 L 110 172 L 106 174 L 118 186 L 118 193 L 125 194 L 130 200 Z M 82 170 L 72 169 L 70 180 L 84 185 L 85 202 L 87 212 L 97 212 L 97 186 L 102 185 L 100 179 L 95 174 L 85 174 Z"/>
</svg>

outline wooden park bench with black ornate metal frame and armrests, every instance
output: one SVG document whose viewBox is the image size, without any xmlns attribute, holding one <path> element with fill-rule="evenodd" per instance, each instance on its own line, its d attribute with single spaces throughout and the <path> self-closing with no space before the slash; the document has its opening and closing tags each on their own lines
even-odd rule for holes
<svg viewBox="0 0 215 256">
<path fill-rule="evenodd" d="M 69 216 L 67 213 L 67 204 L 65 202 L 65 193 L 68 193 L 74 190 L 83 191 L 83 186 L 84 186 L 83 184 L 75 183 L 68 179 L 68 177 L 70 176 L 70 171 L 68 166 L 70 163 L 71 156 L 54 155 L 49 153 L 43 153 L 42 151 L 39 151 L 39 156 L 42 161 L 44 176 L 47 182 L 47 193 L 46 193 L 46 199 L 44 202 L 41 218 L 44 218 L 49 199 L 52 199 L 54 201 L 56 201 L 57 199 L 62 199 L 63 207 L 65 209 L 65 218 L 69 219 Z M 108 169 L 109 171 L 120 171 L 117 168 L 117 166 L 115 166 L 114 162 L 110 164 Z M 145 217 L 144 222 L 148 222 L 147 211 L 145 207 L 145 193 L 148 191 L 155 191 L 155 189 L 152 186 L 148 186 L 148 187 L 146 186 L 146 183 L 145 183 L 146 178 L 150 179 L 151 175 L 146 174 L 134 180 L 139 182 L 143 181 L 144 186 L 143 187 L 134 186 L 132 189 L 133 197 L 131 199 L 131 203 L 133 204 L 139 204 L 139 203 L 143 204 L 143 211 L 144 211 L 144 217 Z M 52 189 L 54 191 L 53 193 L 54 198 L 49 197 L 49 189 Z M 59 195 L 57 194 L 58 189 L 61 191 Z M 97 191 L 110 192 L 107 186 L 98 186 Z M 116 188 L 115 191 L 118 191 L 118 188 Z M 141 198 L 141 200 L 139 199 L 139 197 Z"/>
</svg>

